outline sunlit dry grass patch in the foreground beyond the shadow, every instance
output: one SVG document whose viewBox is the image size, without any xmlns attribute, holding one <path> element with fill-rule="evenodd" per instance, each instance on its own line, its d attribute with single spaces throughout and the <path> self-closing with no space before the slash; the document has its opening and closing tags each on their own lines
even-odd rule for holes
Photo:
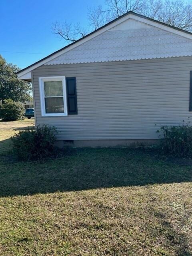
<svg viewBox="0 0 192 256">
<path fill-rule="evenodd" d="M 190 256 L 191 191 L 180 183 L 2 198 L 1 252 Z"/>
</svg>

